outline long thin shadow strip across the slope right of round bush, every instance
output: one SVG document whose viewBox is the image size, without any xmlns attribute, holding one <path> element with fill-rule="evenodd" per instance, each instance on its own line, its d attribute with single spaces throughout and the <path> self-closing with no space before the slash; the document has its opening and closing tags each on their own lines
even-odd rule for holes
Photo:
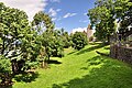
<svg viewBox="0 0 132 88">
<path fill-rule="evenodd" d="M 92 46 L 92 47 L 89 47 L 89 48 L 86 48 L 86 50 L 80 50 L 76 55 L 80 55 L 80 54 L 84 54 L 84 53 L 87 53 L 87 52 L 91 52 L 91 51 L 101 48 L 103 46 L 106 46 L 106 44 L 99 44 L 99 45 L 96 45 L 96 46 Z"/>
</svg>

